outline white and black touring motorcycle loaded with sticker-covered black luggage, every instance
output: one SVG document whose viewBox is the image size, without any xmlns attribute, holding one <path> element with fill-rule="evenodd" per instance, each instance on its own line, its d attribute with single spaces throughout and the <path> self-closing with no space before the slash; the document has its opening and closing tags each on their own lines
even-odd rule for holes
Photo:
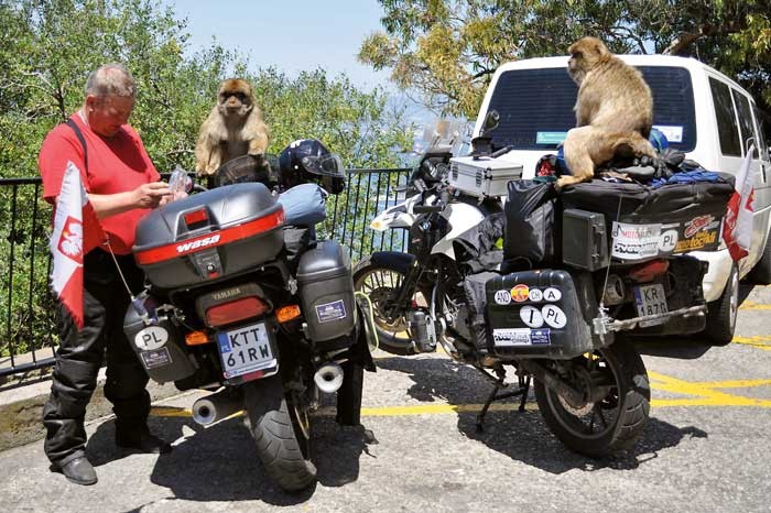
<svg viewBox="0 0 771 513">
<path fill-rule="evenodd" d="M 547 182 L 511 181 L 503 205 L 453 186 L 464 162 L 495 168 L 481 153 L 426 152 L 410 178 L 414 195 L 372 220 L 376 230 L 409 230 L 406 252 L 374 252 L 354 271 L 379 347 L 409 356 L 439 345 L 478 369 L 493 385 L 479 429 L 496 400 L 520 396 L 523 411 L 532 381 L 568 448 L 589 457 L 630 448 L 650 408 L 632 337 L 704 329 L 707 264 L 685 253 L 717 248 L 731 182 L 594 181 L 557 194 Z"/>
</svg>

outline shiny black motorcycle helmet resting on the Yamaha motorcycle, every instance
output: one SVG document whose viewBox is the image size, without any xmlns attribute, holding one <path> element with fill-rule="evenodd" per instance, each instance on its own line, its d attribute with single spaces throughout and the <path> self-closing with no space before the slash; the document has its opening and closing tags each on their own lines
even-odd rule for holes
<svg viewBox="0 0 771 513">
<path fill-rule="evenodd" d="M 279 154 L 281 183 L 284 188 L 315 182 L 327 193 L 339 194 L 346 188 L 346 173 L 339 155 L 316 139 L 300 139 Z"/>
</svg>

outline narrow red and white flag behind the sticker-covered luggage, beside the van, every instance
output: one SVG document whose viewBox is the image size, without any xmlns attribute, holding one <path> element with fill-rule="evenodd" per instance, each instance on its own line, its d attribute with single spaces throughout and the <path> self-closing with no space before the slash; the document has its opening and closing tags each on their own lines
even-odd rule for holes
<svg viewBox="0 0 771 513">
<path fill-rule="evenodd" d="M 750 162 L 754 144 L 750 146 L 736 177 L 734 195 L 728 200 L 728 210 L 723 223 L 723 240 L 735 262 L 747 256 L 752 238 L 752 200 L 754 186 Z"/>
</svg>

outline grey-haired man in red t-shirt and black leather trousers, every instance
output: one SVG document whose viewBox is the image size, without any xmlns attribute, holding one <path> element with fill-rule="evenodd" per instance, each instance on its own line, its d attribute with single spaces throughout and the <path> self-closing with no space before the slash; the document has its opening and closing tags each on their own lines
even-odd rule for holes
<svg viewBox="0 0 771 513">
<path fill-rule="evenodd" d="M 121 65 L 99 67 L 88 77 L 86 99 L 67 123 L 45 138 L 39 156 L 43 197 L 51 204 L 72 162 L 80 171 L 90 204 L 133 294 L 144 276 L 131 254 L 134 230 L 149 209 L 171 199 L 139 134 L 127 124 L 137 85 Z M 51 396 L 43 408 L 45 454 L 52 470 L 78 484 L 97 482 L 86 459 L 84 415 L 107 351 L 105 396 L 116 414 L 116 443 L 140 452 L 169 452 L 171 446 L 150 434 L 148 374 L 123 335 L 129 293 L 112 256 L 94 249 L 84 258 L 84 318 L 78 329 L 67 309 L 57 306 L 59 347 Z"/>
</svg>

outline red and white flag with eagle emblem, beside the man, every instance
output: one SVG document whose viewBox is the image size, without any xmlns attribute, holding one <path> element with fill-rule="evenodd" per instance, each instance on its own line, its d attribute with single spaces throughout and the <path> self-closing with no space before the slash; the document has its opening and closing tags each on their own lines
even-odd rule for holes
<svg viewBox="0 0 771 513">
<path fill-rule="evenodd" d="M 72 162 L 62 179 L 56 201 L 54 231 L 51 234 L 53 272 L 51 284 L 59 301 L 69 310 L 78 329 L 83 328 L 83 256 L 107 236 L 80 182 L 80 172 Z"/>
</svg>

